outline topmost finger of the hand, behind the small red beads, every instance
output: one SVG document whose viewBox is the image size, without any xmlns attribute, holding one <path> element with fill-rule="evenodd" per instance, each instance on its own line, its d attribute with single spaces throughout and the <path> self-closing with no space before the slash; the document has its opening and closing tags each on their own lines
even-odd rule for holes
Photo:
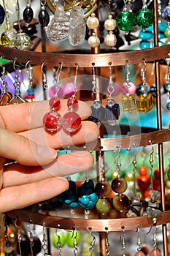
<svg viewBox="0 0 170 256">
<path fill-rule="evenodd" d="M 61 99 L 61 108 L 58 110 L 61 116 L 68 111 L 66 102 L 67 99 Z M 13 132 L 42 127 L 42 118 L 48 111 L 50 107 L 47 101 L 1 106 L 0 127 Z M 85 102 L 80 101 L 77 113 L 84 120 L 90 115 L 90 108 Z"/>
</svg>

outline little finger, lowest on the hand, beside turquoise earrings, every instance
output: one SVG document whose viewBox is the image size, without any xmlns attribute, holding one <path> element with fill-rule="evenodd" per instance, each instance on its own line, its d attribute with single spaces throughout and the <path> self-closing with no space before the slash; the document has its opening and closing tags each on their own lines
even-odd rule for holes
<svg viewBox="0 0 170 256">
<path fill-rule="evenodd" d="M 18 187 L 7 187 L 0 192 L 0 212 L 24 208 L 34 203 L 50 199 L 68 189 L 69 184 L 63 178 L 47 178 Z"/>
</svg>

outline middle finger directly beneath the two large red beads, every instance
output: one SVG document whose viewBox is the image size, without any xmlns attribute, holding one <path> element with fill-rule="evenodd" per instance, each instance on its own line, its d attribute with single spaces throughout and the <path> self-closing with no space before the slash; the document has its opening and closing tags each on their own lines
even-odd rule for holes
<svg viewBox="0 0 170 256">
<path fill-rule="evenodd" d="M 91 148 L 95 148 L 97 138 L 99 136 L 99 129 L 98 126 L 92 121 L 82 121 L 80 130 L 77 133 L 74 133 L 72 136 L 64 132 L 63 129 L 59 130 L 55 134 L 45 132 L 43 127 L 31 129 L 31 131 L 21 132 L 20 135 L 29 138 L 37 144 L 50 146 L 51 148 L 66 148 L 66 146 L 78 146 L 81 144 L 85 146 L 86 143 L 91 142 L 93 142 L 93 145 L 90 145 Z"/>
</svg>

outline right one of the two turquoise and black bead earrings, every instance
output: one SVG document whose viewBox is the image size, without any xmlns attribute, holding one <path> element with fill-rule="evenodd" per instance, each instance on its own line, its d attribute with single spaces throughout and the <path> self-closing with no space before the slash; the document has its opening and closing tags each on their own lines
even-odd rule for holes
<svg viewBox="0 0 170 256">
<path fill-rule="evenodd" d="M 96 206 L 98 196 L 96 195 L 92 179 L 88 178 L 86 171 L 85 182 L 77 188 L 78 202 L 85 209 L 85 215 L 90 213 L 90 210 Z"/>
</svg>

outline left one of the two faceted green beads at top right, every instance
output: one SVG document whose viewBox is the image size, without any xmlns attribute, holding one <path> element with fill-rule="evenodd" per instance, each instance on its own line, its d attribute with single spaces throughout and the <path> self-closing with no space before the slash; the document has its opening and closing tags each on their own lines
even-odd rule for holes
<svg viewBox="0 0 170 256">
<path fill-rule="evenodd" d="M 123 31 L 129 31 L 133 28 L 135 23 L 135 17 L 131 12 L 120 12 L 116 18 L 117 28 Z"/>
</svg>

